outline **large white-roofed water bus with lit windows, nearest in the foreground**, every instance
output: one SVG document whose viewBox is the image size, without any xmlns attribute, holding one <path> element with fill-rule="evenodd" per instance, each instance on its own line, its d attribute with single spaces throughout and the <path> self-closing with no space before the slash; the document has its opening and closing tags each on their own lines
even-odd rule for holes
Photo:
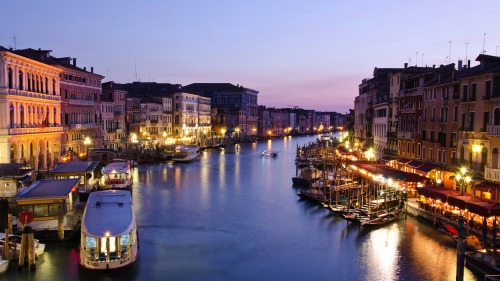
<svg viewBox="0 0 500 281">
<path fill-rule="evenodd" d="M 134 263 L 139 236 L 132 204 L 126 190 L 92 192 L 83 212 L 80 265 L 106 270 Z"/>
</svg>

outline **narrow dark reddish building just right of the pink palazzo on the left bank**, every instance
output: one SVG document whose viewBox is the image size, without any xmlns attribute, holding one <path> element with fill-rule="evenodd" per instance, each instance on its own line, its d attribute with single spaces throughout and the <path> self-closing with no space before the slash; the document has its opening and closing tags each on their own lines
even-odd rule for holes
<svg viewBox="0 0 500 281">
<path fill-rule="evenodd" d="M 104 148 L 125 147 L 125 101 L 127 92 L 116 87 L 113 81 L 102 84 L 101 116 Z"/>
</svg>

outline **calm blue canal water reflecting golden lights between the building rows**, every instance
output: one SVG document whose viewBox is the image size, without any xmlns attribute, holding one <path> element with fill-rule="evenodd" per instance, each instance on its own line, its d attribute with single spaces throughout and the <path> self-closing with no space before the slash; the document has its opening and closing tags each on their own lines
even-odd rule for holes
<svg viewBox="0 0 500 281">
<path fill-rule="evenodd" d="M 455 243 L 402 216 L 367 230 L 299 199 L 297 145 L 316 136 L 205 151 L 134 171 L 139 260 L 109 272 L 78 264 L 77 242 L 51 242 L 35 271 L 2 280 L 455 280 Z M 263 156 L 272 149 L 278 157 Z M 465 268 L 464 280 L 479 280 Z"/>
</svg>

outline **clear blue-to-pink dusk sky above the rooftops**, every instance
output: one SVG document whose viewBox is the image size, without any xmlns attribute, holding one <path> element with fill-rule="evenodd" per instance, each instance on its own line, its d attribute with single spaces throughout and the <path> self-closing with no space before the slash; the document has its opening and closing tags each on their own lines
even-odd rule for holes
<svg viewBox="0 0 500 281">
<path fill-rule="evenodd" d="M 103 82 L 232 83 L 258 104 L 347 113 L 375 67 L 497 55 L 500 1 L 3 1 L 0 46 L 52 50 Z"/>
</svg>

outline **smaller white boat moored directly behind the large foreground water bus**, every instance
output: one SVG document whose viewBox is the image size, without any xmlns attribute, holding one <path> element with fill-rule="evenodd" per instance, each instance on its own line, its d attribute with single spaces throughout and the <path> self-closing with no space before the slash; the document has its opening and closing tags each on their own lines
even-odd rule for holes
<svg viewBox="0 0 500 281">
<path fill-rule="evenodd" d="M 101 189 L 129 189 L 131 186 L 132 174 L 129 163 L 113 162 L 102 169 Z"/>
</svg>

